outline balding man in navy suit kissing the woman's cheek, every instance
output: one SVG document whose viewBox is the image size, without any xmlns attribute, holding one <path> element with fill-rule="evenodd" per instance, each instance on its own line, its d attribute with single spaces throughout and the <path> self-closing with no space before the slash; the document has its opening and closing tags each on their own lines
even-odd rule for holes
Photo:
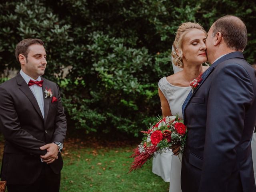
<svg viewBox="0 0 256 192">
<path fill-rule="evenodd" d="M 206 39 L 212 65 L 182 109 L 188 136 L 182 192 L 255 192 L 251 140 L 256 123 L 256 72 L 242 54 L 244 23 L 224 16 Z"/>
</svg>

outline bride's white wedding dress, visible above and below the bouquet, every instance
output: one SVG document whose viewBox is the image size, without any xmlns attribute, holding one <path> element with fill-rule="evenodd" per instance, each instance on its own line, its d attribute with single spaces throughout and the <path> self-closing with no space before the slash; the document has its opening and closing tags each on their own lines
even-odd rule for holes
<svg viewBox="0 0 256 192">
<path fill-rule="evenodd" d="M 178 114 L 179 118 L 183 119 L 181 107 L 191 87 L 174 86 L 167 81 L 166 77 L 160 79 L 158 87 L 168 100 L 172 115 Z M 165 182 L 170 182 L 169 192 L 182 192 L 180 187 L 181 162 L 171 150 L 153 159 L 152 172 L 162 177 Z"/>
</svg>

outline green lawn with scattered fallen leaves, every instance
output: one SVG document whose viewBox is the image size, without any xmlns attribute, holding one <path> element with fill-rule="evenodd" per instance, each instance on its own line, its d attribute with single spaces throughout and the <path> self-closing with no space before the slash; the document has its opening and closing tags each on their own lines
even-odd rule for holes
<svg viewBox="0 0 256 192">
<path fill-rule="evenodd" d="M 151 162 L 128 174 L 134 147 L 65 142 L 60 192 L 168 192 L 169 183 L 151 172 Z"/>
</svg>

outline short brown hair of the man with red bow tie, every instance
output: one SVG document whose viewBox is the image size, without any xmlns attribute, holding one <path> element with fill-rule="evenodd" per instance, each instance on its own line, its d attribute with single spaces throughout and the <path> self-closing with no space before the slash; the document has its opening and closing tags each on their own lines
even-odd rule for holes
<svg viewBox="0 0 256 192">
<path fill-rule="evenodd" d="M 44 42 L 40 39 L 24 39 L 17 44 L 16 50 L 15 50 L 15 56 L 16 56 L 18 63 L 20 63 L 19 54 L 24 55 L 27 59 L 28 52 L 29 52 L 29 46 L 33 45 L 33 44 L 39 44 L 39 45 L 43 46 Z"/>
</svg>

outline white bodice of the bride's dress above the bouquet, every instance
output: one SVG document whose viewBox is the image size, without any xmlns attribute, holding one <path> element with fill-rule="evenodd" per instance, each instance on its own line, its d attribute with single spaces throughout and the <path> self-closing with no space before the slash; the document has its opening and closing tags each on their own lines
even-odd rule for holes
<svg viewBox="0 0 256 192">
<path fill-rule="evenodd" d="M 191 87 L 174 86 L 167 81 L 166 77 L 159 80 L 158 87 L 167 99 L 172 115 L 178 114 L 179 118 L 183 119 L 181 107 L 187 98 Z"/>
</svg>

